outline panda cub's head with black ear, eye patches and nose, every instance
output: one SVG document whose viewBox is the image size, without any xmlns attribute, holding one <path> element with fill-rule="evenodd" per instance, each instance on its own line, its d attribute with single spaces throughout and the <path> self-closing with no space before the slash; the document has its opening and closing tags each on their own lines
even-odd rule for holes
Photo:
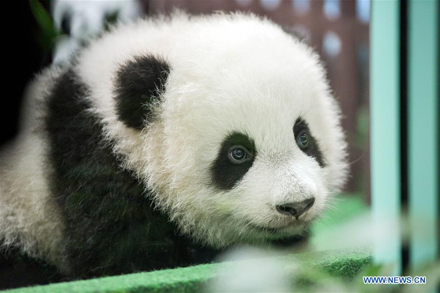
<svg viewBox="0 0 440 293">
<path fill-rule="evenodd" d="M 114 65 L 115 151 L 196 241 L 224 248 L 301 234 L 347 175 L 318 56 L 252 16 L 181 26 L 174 46 L 139 46 Z"/>
</svg>

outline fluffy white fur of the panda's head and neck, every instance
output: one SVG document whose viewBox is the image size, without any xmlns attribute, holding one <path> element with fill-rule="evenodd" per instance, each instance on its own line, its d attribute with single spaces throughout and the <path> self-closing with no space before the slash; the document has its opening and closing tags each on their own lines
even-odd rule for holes
<svg viewBox="0 0 440 293">
<path fill-rule="evenodd" d="M 165 58 L 171 72 L 163 102 L 154 106 L 156 119 L 137 131 L 118 120 L 114 76 L 120 64 L 146 54 Z M 339 108 L 319 58 L 271 21 L 179 13 L 138 21 L 91 42 L 75 70 L 90 88 L 91 110 L 116 142 L 123 167 L 154 191 L 156 205 L 196 241 L 222 248 L 300 233 L 345 181 Z M 326 167 L 296 145 L 299 116 L 319 141 Z M 258 155 L 238 186 L 219 191 L 210 184 L 210 166 L 235 130 L 255 141 Z M 300 221 L 274 209 L 309 196 L 315 204 Z M 256 226 L 288 227 L 274 235 Z"/>
</svg>

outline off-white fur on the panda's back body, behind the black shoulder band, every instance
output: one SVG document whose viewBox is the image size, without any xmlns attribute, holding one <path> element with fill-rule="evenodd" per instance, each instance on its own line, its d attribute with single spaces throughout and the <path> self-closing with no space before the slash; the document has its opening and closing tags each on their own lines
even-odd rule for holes
<svg viewBox="0 0 440 293">
<path fill-rule="evenodd" d="M 51 168 L 43 125 L 43 99 L 61 72 L 46 69 L 28 86 L 20 134 L 0 152 L 0 239 L 5 241 L 0 248 L 20 247 L 67 272 L 63 218 L 47 184 Z"/>
</svg>

